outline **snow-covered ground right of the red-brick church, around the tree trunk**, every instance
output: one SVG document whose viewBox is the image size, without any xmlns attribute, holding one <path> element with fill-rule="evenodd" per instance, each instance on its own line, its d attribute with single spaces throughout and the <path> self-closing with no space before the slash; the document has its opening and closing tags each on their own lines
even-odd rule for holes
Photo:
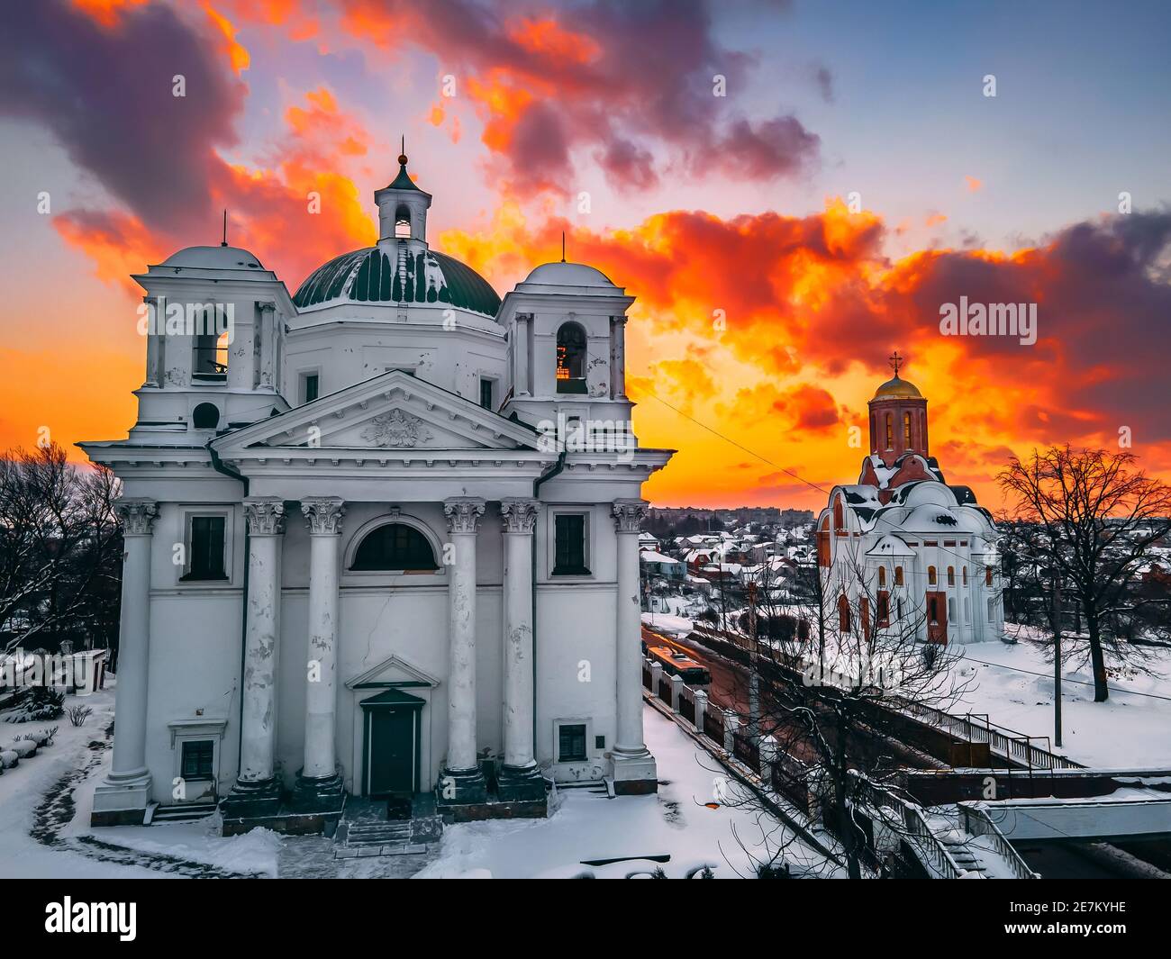
<svg viewBox="0 0 1171 959">
<path fill-rule="evenodd" d="M 1028 735 L 1053 737 L 1053 664 L 1030 643 L 974 643 L 958 669 L 973 689 L 952 713 L 987 713 Z M 1171 767 L 1171 659 L 1155 677 L 1110 680 L 1110 698 L 1094 701 L 1087 667 L 1062 671 L 1064 753 L 1100 768 Z"/>
</svg>

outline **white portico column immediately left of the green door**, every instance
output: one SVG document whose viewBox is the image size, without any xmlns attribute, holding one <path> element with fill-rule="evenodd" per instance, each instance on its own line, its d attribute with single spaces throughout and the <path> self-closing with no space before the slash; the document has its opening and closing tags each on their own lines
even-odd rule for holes
<svg viewBox="0 0 1171 959">
<path fill-rule="evenodd" d="M 304 779 L 336 774 L 337 567 L 342 515 L 337 496 L 301 501 L 309 527 L 309 659 L 306 664 Z"/>
</svg>

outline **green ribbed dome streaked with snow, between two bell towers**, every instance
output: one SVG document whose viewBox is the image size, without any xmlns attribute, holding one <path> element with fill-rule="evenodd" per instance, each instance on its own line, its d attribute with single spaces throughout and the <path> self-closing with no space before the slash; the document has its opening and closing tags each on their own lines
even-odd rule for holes
<svg viewBox="0 0 1171 959">
<path fill-rule="evenodd" d="M 317 267 L 301 283 L 293 302 L 300 309 L 356 303 L 450 303 L 495 317 L 500 297 L 470 266 L 432 249 L 393 251 L 379 247 L 343 253 Z"/>
</svg>

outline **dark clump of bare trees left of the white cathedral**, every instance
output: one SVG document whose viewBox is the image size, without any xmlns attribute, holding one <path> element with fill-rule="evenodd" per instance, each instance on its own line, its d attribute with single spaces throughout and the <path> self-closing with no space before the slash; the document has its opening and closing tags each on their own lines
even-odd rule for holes
<svg viewBox="0 0 1171 959">
<path fill-rule="evenodd" d="M 0 626 L 4 648 L 105 632 L 117 623 L 122 533 L 117 480 L 76 467 L 56 444 L 0 458 Z M 111 614 L 112 608 L 112 614 Z"/>
</svg>

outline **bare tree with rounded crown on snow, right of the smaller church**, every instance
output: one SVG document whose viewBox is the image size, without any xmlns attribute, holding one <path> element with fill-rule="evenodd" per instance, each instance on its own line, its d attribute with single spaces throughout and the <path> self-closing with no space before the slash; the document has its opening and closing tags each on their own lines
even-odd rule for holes
<svg viewBox="0 0 1171 959">
<path fill-rule="evenodd" d="M 1130 665 L 1143 658 L 1122 614 L 1135 608 L 1150 547 L 1171 532 L 1171 487 L 1136 464 L 1132 453 L 1050 446 L 1025 461 L 1013 457 L 998 477 L 1009 519 L 1036 528 L 1015 539 L 1016 562 L 1052 569 L 1084 618 L 1096 703 L 1110 696 L 1108 657 Z"/>
</svg>

